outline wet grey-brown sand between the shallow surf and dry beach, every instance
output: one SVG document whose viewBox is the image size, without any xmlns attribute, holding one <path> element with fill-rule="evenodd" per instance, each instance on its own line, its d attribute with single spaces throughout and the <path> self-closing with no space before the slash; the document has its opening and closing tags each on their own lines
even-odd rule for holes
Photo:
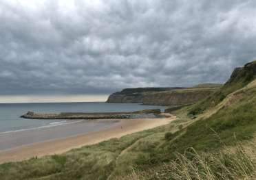
<svg viewBox="0 0 256 180">
<path fill-rule="evenodd" d="M 53 127 L 44 127 L 10 133 L 0 133 L 0 152 L 14 149 L 19 146 L 34 144 L 37 142 L 67 138 L 85 133 L 92 133 L 94 131 L 108 129 L 109 127 L 113 127 L 114 125 L 121 123 L 120 120 L 68 121 L 70 121 L 72 124 L 57 125 Z"/>
</svg>

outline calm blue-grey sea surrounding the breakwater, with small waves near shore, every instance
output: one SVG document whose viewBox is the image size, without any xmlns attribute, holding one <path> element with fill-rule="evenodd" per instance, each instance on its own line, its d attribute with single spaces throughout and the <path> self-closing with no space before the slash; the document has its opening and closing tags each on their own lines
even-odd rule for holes
<svg viewBox="0 0 256 180">
<path fill-rule="evenodd" d="M 78 120 L 38 120 L 19 118 L 28 111 L 39 113 L 60 112 L 133 112 L 160 108 L 164 112 L 165 106 L 140 105 L 134 103 L 0 103 L 0 133 L 25 131 L 76 123 Z"/>
</svg>

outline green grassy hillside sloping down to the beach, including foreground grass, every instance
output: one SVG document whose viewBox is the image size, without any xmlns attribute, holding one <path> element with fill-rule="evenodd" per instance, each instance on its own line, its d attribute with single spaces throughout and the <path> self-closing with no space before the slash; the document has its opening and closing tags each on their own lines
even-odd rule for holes
<svg viewBox="0 0 256 180">
<path fill-rule="evenodd" d="M 256 179 L 256 62 L 168 125 L 0 165 L 0 179 Z M 196 88 L 196 87 L 194 87 Z"/>
</svg>

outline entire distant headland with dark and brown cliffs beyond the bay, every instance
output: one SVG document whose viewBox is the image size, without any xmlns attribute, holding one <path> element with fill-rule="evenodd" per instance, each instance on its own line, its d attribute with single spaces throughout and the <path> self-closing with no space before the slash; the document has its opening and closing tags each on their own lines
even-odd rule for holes
<svg viewBox="0 0 256 180">
<path fill-rule="evenodd" d="M 204 83 L 190 88 L 127 88 L 109 96 L 106 103 L 142 103 L 143 105 L 187 105 L 201 101 L 222 84 Z"/>
</svg>

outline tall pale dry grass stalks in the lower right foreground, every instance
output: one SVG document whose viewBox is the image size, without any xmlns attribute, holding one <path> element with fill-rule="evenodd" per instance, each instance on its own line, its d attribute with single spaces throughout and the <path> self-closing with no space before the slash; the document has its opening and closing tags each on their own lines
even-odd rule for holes
<svg viewBox="0 0 256 180">
<path fill-rule="evenodd" d="M 132 168 L 121 179 L 256 179 L 256 142 L 246 144 L 237 142 L 235 146 L 225 146 L 218 153 L 197 153 L 187 149 L 184 153 L 175 153 L 175 159 L 160 164 L 147 171 Z"/>
</svg>

